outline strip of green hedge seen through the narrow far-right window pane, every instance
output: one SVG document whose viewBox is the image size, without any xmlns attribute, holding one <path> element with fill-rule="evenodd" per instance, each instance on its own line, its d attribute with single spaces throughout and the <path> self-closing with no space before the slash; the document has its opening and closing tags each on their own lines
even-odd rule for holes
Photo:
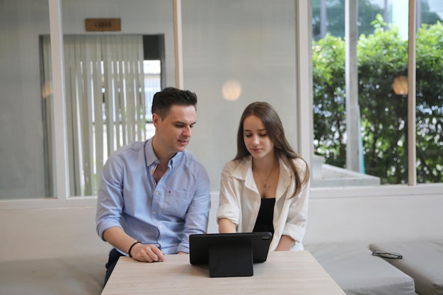
<svg viewBox="0 0 443 295">
<path fill-rule="evenodd" d="M 443 25 L 417 33 L 417 163 L 422 183 L 441 183 L 443 170 Z"/>
</svg>

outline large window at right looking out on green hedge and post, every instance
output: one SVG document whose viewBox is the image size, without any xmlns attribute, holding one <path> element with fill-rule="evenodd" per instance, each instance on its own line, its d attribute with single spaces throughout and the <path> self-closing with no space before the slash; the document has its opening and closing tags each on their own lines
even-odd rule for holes
<svg viewBox="0 0 443 295">
<path fill-rule="evenodd" d="M 357 8 L 357 22 L 350 23 L 357 31 L 356 42 L 350 42 L 355 64 L 345 38 L 345 1 L 313 1 L 314 149 L 326 164 L 314 185 L 341 186 L 345 178 L 355 185 L 374 185 L 377 179 L 406 184 L 410 161 L 418 183 L 442 183 L 442 5 L 422 0 L 415 8 L 416 93 L 408 93 L 408 1 L 358 1 L 349 8 L 351 19 L 352 8 Z M 352 87 L 355 93 L 346 92 Z M 414 94 L 417 156 L 410 158 L 408 121 L 414 117 L 408 99 Z"/>
</svg>

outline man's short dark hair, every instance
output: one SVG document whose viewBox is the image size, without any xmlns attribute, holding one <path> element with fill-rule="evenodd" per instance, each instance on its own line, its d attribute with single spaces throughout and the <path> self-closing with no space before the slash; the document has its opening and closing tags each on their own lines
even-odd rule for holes
<svg viewBox="0 0 443 295">
<path fill-rule="evenodd" d="M 197 95 L 188 90 L 166 87 L 154 94 L 151 112 L 163 120 L 169 114 L 172 105 L 192 105 L 197 110 Z"/>
</svg>

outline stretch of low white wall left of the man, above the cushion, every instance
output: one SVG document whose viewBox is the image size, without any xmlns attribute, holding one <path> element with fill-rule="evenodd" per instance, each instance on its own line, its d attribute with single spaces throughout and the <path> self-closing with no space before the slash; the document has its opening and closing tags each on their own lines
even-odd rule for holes
<svg viewBox="0 0 443 295">
<path fill-rule="evenodd" d="M 99 255 L 96 207 L 0 210 L 0 261 Z"/>
</svg>

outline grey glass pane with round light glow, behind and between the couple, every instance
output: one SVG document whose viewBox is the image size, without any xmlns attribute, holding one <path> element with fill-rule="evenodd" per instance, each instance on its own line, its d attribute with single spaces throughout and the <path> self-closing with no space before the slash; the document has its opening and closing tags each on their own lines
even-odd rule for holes
<svg viewBox="0 0 443 295">
<path fill-rule="evenodd" d="M 188 0 L 183 9 L 183 79 L 197 93 L 197 125 L 189 150 L 219 189 L 226 161 L 236 155 L 241 113 L 267 101 L 298 147 L 295 71 L 295 2 L 292 0 Z"/>
</svg>

